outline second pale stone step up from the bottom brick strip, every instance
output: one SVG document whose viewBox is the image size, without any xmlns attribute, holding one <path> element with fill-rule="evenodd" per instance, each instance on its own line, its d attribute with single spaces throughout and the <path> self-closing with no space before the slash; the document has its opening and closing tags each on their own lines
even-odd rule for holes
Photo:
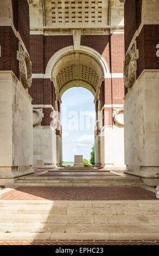
<svg viewBox="0 0 159 256">
<path fill-rule="evenodd" d="M 159 224 L 2 223 L 1 232 L 159 233 Z"/>
</svg>

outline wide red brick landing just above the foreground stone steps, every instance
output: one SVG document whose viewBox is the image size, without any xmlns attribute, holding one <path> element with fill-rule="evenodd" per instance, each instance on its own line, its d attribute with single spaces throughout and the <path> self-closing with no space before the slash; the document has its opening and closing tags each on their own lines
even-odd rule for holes
<svg viewBox="0 0 159 256">
<path fill-rule="evenodd" d="M 17 187 L 1 200 L 157 200 L 142 187 Z"/>
</svg>

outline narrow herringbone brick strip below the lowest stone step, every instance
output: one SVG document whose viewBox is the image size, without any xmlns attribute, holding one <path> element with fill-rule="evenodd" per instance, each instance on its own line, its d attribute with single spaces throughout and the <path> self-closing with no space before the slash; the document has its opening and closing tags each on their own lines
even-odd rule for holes
<svg viewBox="0 0 159 256">
<path fill-rule="evenodd" d="M 0 245 L 159 245 L 159 240 L 0 240 Z"/>
</svg>

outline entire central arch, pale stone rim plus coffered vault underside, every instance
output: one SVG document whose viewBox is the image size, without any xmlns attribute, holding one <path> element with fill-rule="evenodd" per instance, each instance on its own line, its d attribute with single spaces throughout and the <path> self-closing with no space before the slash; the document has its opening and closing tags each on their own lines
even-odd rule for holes
<svg viewBox="0 0 159 256">
<path fill-rule="evenodd" d="M 80 50 L 74 50 L 73 46 L 68 46 L 50 58 L 45 76 L 53 81 L 60 102 L 63 92 L 79 86 L 90 90 L 96 102 L 101 82 L 108 73 L 109 68 L 105 59 L 96 50 L 87 46 L 80 46 Z"/>
</svg>

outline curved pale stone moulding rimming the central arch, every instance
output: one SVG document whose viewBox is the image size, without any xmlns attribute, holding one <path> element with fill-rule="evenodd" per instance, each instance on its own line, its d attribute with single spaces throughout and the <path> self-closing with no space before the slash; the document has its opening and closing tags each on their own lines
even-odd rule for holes
<svg viewBox="0 0 159 256">
<path fill-rule="evenodd" d="M 93 57 L 94 59 L 96 59 L 103 70 L 104 78 L 106 77 L 107 74 L 110 73 L 109 66 L 106 63 L 106 60 L 103 58 L 103 56 L 101 56 L 99 52 L 97 52 L 91 47 L 83 46 L 83 45 L 80 46 L 80 50 L 74 51 L 74 46 L 72 45 L 72 46 L 67 46 L 60 49 L 49 59 L 46 66 L 45 76 L 47 78 L 50 78 L 52 76 L 52 69 L 54 65 L 58 62 L 58 60 L 63 56 L 65 56 L 66 54 L 73 53 L 73 52 L 85 53 L 85 54 L 88 54 L 90 57 Z"/>
</svg>

